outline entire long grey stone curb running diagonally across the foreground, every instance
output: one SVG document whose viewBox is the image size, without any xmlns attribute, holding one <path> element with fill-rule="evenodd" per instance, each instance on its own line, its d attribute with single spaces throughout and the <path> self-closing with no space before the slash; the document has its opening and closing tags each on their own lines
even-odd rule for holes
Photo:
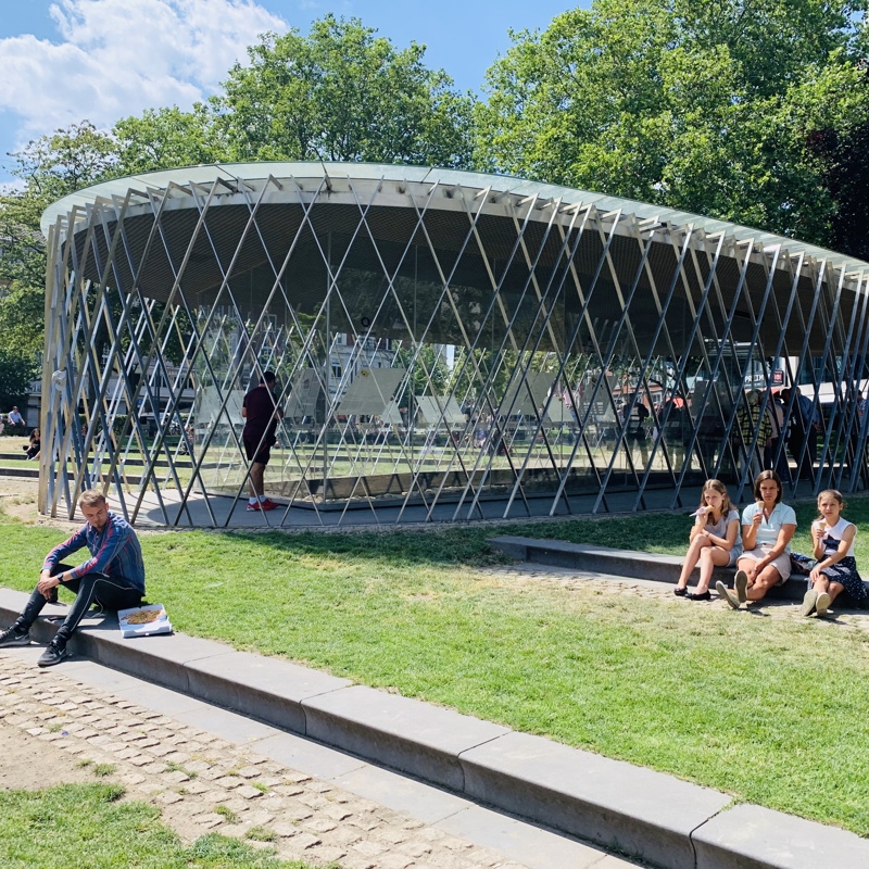
<svg viewBox="0 0 869 869">
<path fill-rule="evenodd" d="M 27 596 L 0 589 L 0 625 Z M 32 634 L 54 631 L 40 619 Z M 106 615 L 72 651 L 665 869 L 869 866 L 869 842 L 853 833 L 210 640 L 124 640 Z"/>
</svg>

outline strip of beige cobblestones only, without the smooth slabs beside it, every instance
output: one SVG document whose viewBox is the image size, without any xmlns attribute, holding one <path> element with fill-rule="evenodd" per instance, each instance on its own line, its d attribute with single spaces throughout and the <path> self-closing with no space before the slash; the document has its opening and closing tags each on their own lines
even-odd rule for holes
<svg viewBox="0 0 869 869">
<path fill-rule="evenodd" d="M 344 869 L 524 869 L 410 816 L 0 652 L 0 728 L 111 765 L 186 841 L 207 831 Z M 604 858 L 606 859 L 606 858 Z"/>
</svg>

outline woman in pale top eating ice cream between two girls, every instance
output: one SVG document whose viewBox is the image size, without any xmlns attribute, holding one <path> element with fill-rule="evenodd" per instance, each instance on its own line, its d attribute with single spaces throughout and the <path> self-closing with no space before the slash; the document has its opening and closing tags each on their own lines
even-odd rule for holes
<svg viewBox="0 0 869 869">
<path fill-rule="evenodd" d="M 723 582 L 715 588 L 734 609 L 746 601 L 759 601 L 773 585 L 791 576 L 791 540 L 796 531 L 793 507 L 781 503 L 781 478 L 761 471 L 754 482 L 755 503 L 742 512 L 744 552 L 736 562 L 735 594 Z"/>
</svg>

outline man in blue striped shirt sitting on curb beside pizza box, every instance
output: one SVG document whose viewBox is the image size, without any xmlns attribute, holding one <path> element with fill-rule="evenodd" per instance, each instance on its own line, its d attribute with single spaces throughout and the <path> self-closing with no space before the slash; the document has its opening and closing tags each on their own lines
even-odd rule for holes
<svg viewBox="0 0 869 869">
<path fill-rule="evenodd" d="M 67 655 L 66 644 L 92 603 L 106 609 L 138 606 L 144 596 L 144 565 L 136 532 L 118 515 L 111 513 L 105 495 L 95 489 L 78 501 L 87 524 L 46 556 L 42 574 L 30 600 L 15 624 L 0 633 L 0 648 L 28 645 L 30 626 L 47 603 L 58 600 L 58 585 L 75 592 L 70 613 L 42 653 L 38 664 L 50 667 Z M 61 564 L 61 558 L 80 549 L 91 557 L 78 567 Z"/>
</svg>

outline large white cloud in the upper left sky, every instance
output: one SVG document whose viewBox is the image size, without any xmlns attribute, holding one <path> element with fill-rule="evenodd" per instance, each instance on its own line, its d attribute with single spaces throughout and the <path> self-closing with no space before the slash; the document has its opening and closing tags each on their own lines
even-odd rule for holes
<svg viewBox="0 0 869 869">
<path fill-rule="evenodd" d="M 88 119 L 109 127 L 148 108 L 212 93 L 245 47 L 287 24 L 253 0 L 60 0 L 61 39 L 0 39 L 0 110 L 26 141 Z"/>
</svg>

